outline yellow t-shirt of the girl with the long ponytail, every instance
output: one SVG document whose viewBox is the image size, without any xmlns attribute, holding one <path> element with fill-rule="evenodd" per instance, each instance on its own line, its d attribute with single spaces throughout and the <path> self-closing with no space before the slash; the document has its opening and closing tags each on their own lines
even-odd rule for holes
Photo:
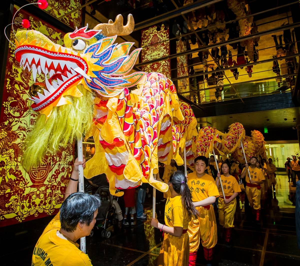
<svg viewBox="0 0 300 266">
<path fill-rule="evenodd" d="M 187 229 L 190 217 L 182 206 L 181 196 L 168 197 L 165 206 L 165 223 L 167 226 Z"/>
</svg>

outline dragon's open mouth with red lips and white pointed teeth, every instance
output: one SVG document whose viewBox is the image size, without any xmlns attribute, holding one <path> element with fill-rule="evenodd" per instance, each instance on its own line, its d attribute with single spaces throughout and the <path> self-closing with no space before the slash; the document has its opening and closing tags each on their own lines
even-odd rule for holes
<svg viewBox="0 0 300 266">
<path fill-rule="evenodd" d="M 68 53 L 55 52 L 33 45 L 22 45 L 15 50 L 16 60 L 25 69 L 32 71 L 35 81 L 36 75 L 45 75 L 47 90 L 44 94 L 33 96 L 32 109 L 40 111 L 63 93 L 71 84 L 83 77 L 88 78 L 87 63 L 79 56 Z M 47 75 L 49 74 L 49 78 Z M 55 81 L 56 79 L 56 81 Z"/>
</svg>

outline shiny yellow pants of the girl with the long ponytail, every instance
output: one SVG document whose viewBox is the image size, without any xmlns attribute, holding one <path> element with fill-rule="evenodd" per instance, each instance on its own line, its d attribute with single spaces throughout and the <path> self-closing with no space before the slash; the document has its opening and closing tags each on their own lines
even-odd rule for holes
<svg viewBox="0 0 300 266">
<path fill-rule="evenodd" d="M 187 266 L 190 254 L 187 232 L 181 237 L 164 233 L 164 242 L 158 255 L 158 266 Z"/>
</svg>

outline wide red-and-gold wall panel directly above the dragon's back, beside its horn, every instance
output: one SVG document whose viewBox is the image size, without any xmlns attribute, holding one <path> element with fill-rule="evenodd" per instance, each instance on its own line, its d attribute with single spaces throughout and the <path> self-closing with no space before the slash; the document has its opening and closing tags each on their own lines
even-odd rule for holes
<svg viewBox="0 0 300 266">
<path fill-rule="evenodd" d="M 141 39 L 141 62 L 147 62 L 153 59 L 170 55 L 169 30 L 165 30 L 164 26 L 160 31 L 156 30 L 156 26 L 142 30 Z M 171 78 L 170 60 L 155 62 L 142 67 L 145 72 L 159 72 Z"/>
</svg>

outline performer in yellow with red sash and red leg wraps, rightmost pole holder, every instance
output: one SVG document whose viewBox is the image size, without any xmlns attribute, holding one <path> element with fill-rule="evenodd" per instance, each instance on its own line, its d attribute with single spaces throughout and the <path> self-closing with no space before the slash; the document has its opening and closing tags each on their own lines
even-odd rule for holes
<svg viewBox="0 0 300 266">
<path fill-rule="evenodd" d="M 260 196 L 261 196 L 261 184 L 265 180 L 265 177 L 262 173 L 261 169 L 256 167 L 256 162 L 258 159 L 253 156 L 250 158 L 250 168 L 249 164 L 245 165 L 241 173 L 241 178 L 246 178 L 246 188 L 245 192 L 249 201 L 251 208 L 256 212 L 256 221 L 259 221 L 259 214 L 260 214 Z M 248 168 L 251 175 L 251 180 L 249 178 Z"/>
</svg>

